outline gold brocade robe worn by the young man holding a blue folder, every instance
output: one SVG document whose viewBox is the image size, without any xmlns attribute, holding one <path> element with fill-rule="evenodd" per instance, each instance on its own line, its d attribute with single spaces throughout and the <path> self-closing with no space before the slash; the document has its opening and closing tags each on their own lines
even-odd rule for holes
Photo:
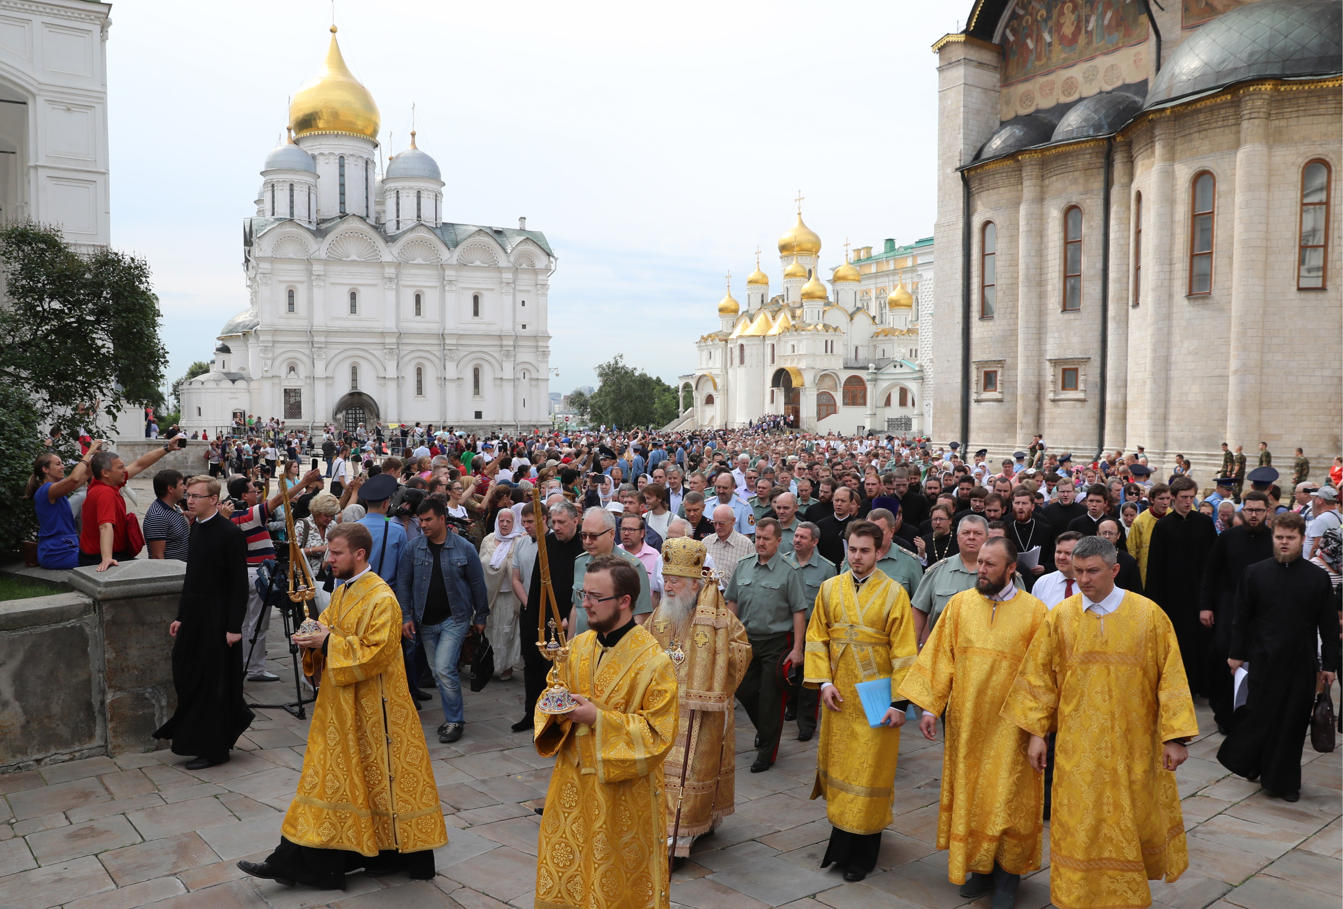
<svg viewBox="0 0 1343 909">
<path fill-rule="evenodd" d="M 913 614 L 905 588 L 880 571 L 861 591 L 853 572 L 821 585 L 807 624 L 803 685 L 833 682 L 839 710 L 821 709 L 817 784 L 811 798 L 826 800 L 830 823 L 850 834 L 881 832 L 890 823 L 900 729 L 868 725 L 854 687 L 890 678 L 890 700 L 917 655 Z"/>
</svg>

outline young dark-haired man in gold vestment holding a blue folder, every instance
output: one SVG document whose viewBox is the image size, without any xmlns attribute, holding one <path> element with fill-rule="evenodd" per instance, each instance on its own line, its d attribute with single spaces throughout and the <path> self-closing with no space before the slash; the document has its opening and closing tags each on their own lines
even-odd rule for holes
<svg viewBox="0 0 1343 909">
<path fill-rule="evenodd" d="M 821 867 L 834 862 L 846 881 L 861 881 L 876 867 L 881 831 L 890 823 L 908 706 L 896 691 L 917 647 L 909 595 L 877 569 L 881 528 L 854 521 L 847 534 L 850 568 L 821 584 L 807 623 L 803 685 L 819 687 L 826 708 L 811 798 L 825 798 L 834 830 Z M 855 686 L 877 679 L 889 679 L 890 706 L 873 726 Z"/>
</svg>

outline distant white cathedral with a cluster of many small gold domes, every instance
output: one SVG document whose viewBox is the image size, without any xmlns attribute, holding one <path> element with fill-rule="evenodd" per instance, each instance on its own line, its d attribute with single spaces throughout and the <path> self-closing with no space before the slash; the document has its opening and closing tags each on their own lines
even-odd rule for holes
<svg viewBox="0 0 1343 909">
<path fill-rule="evenodd" d="M 779 238 L 779 265 L 780 294 L 770 294 L 759 258 L 744 307 L 729 283 L 720 329 L 696 342 L 697 368 L 681 377 L 693 404 L 678 428 L 737 428 L 779 415 L 803 432 L 923 432 L 932 415 L 924 396 L 931 358 L 920 345 L 931 328 L 933 239 L 888 239 L 853 260 L 846 252 L 826 290 L 821 238 L 799 209 Z"/>
</svg>

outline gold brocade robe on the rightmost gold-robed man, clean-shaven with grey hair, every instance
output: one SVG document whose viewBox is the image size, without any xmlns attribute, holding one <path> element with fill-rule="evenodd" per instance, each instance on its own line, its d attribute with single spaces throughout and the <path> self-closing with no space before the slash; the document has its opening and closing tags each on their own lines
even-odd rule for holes
<svg viewBox="0 0 1343 909">
<path fill-rule="evenodd" d="M 1081 595 L 1030 643 L 1003 716 L 1034 736 L 1058 728 L 1049 892 L 1061 909 L 1147 906 L 1148 881 L 1189 867 L 1164 743 L 1198 734 L 1175 631 L 1156 603 L 1125 593 L 1107 616 Z"/>
</svg>

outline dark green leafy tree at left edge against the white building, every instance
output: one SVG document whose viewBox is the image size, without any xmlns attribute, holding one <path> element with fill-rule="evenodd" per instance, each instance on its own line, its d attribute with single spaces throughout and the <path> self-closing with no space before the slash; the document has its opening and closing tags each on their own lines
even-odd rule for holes
<svg viewBox="0 0 1343 909">
<path fill-rule="evenodd" d="M 24 223 L 0 230 L 0 384 L 31 393 L 39 426 L 73 439 L 90 410 L 163 407 L 168 352 L 144 259 L 78 252 L 59 228 Z"/>
</svg>

